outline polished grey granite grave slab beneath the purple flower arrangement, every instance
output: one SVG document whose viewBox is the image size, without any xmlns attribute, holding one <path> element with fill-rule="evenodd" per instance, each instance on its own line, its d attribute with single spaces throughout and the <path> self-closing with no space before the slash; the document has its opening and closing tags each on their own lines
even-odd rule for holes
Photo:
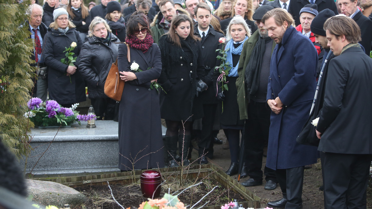
<svg viewBox="0 0 372 209">
<path fill-rule="evenodd" d="M 32 169 L 34 175 L 120 172 L 118 122 L 95 123 L 96 128 L 86 128 L 85 121 L 59 130 L 33 128 L 30 145 L 34 149 L 27 159 L 26 173 Z M 162 131 L 164 137 L 166 128 Z M 24 167 L 25 159 L 19 163 Z"/>
</svg>

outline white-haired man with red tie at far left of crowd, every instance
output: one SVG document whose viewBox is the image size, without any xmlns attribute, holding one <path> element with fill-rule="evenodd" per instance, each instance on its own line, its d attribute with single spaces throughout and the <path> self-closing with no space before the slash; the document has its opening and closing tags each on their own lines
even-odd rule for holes
<svg viewBox="0 0 372 209">
<path fill-rule="evenodd" d="M 32 97 L 39 97 L 42 101 L 47 100 L 48 95 L 48 68 L 44 64 L 42 56 L 42 46 L 45 34 L 48 32 L 48 27 L 41 22 L 43 16 L 43 8 L 39 4 L 32 4 L 26 11 L 30 15 L 26 25 L 29 25 L 29 31 L 31 32 L 30 38 L 35 39 L 35 48 L 31 57 L 36 63 L 31 66 L 36 66 L 36 78 L 35 86 L 32 89 Z"/>
</svg>

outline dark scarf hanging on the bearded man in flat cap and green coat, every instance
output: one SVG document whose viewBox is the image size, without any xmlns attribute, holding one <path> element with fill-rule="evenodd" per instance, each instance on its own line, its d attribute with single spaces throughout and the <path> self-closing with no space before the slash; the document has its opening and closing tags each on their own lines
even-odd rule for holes
<svg viewBox="0 0 372 209">
<path fill-rule="evenodd" d="M 246 67 L 246 86 L 247 86 L 247 99 L 250 100 L 251 95 L 256 94 L 259 86 L 259 77 L 261 71 L 261 64 L 263 55 L 265 53 L 265 45 L 271 40 L 270 37 L 261 38 L 259 37 L 256 46 L 254 46 L 249 59 L 248 65 Z"/>
</svg>

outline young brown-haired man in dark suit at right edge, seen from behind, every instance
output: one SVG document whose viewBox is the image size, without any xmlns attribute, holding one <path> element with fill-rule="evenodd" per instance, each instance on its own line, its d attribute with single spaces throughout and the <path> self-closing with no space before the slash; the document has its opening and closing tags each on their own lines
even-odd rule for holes
<svg viewBox="0 0 372 209">
<path fill-rule="evenodd" d="M 328 65 L 316 134 L 324 154 L 325 208 L 366 208 L 372 159 L 372 59 L 360 48 L 360 30 L 348 17 L 324 23 L 335 58 Z M 337 34 L 337 36 L 336 36 Z M 328 79 L 329 78 L 329 79 Z"/>
</svg>

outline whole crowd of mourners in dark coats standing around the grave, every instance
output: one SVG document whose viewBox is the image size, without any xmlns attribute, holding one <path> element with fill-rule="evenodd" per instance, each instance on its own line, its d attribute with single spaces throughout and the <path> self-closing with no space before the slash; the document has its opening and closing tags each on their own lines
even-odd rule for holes
<svg viewBox="0 0 372 209">
<path fill-rule="evenodd" d="M 372 0 L 32 3 L 31 95 L 71 107 L 87 87 L 99 120 L 119 122 L 120 170 L 188 166 L 192 148 L 208 164 L 223 129 L 227 175 L 279 184 L 267 206 L 302 208 L 304 169 L 320 157 L 324 207 L 366 208 Z M 116 60 L 120 102 L 104 92 Z"/>
</svg>

